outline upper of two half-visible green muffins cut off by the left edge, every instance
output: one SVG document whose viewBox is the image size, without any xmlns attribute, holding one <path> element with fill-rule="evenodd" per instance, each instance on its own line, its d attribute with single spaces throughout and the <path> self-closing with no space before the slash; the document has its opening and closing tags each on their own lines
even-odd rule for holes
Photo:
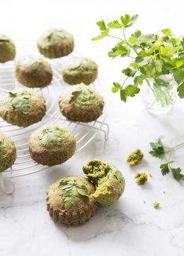
<svg viewBox="0 0 184 256">
<path fill-rule="evenodd" d="M 6 63 L 16 57 L 16 46 L 11 38 L 0 34 L 0 63 Z"/>
</svg>

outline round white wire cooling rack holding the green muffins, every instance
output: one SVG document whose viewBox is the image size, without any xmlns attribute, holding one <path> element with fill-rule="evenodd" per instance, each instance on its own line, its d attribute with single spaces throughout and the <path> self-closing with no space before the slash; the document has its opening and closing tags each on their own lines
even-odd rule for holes
<svg viewBox="0 0 184 256">
<path fill-rule="evenodd" d="M 34 41 L 17 41 L 16 42 L 16 59 L 20 58 L 25 54 L 37 54 L 37 46 Z M 62 70 L 62 63 L 64 63 L 67 58 L 80 56 L 79 53 L 74 51 L 67 57 L 59 58 L 56 60 L 46 59 L 50 65 L 52 65 L 53 79 L 50 85 L 44 88 L 35 89 L 40 92 L 43 97 L 45 97 L 47 112 L 42 121 L 32 124 L 29 127 L 17 127 L 8 124 L 3 119 L 0 118 L 0 132 L 8 135 L 13 139 L 16 144 L 17 149 L 17 159 L 15 164 L 4 172 L 0 173 L 0 186 L 1 190 L 6 194 L 11 194 L 15 191 L 15 186 L 13 183 L 13 178 L 20 176 L 25 176 L 28 174 L 35 174 L 39 171 L 44 171 L 49 169 L 49 166 L 42 166 L 37 164 L 33 159 L 30 158 L 28 151 L 28 137 L 30 134 L 38 127 L 43 125 L 58 124 L 64 127 L 69 127 L 76 137 L 76 153 L 81 149 L 84 149 L 93 139 L 96 137 L 97 132 L 102 132 L 104 139 L 108 138 L 109 127 L 105 123 L 105 118 L 108 114 L 108 90 L 105 88 L 105 83 L 103 78 L 98 75 L 98 79 L 93 82 L 90 86 L 94 90 L 100 92 L 105 99 L 105 106 L 103 110 L 103 115 L 98 118 L 95 122 L 81 123 L 81 122 L 71 122 L 67 120 L 59 111 L 58 97 L 60 92 L 71 85 L 67 85 L 60 75 Z M 16 88 L 26 88 L 19 84 L 14 75 L 14 61 L 9 61 L 4 64 L 0 64 L 0 97 L 2 97 L 7 92 L 14 90 Z M 75 153 L 75 154 L 76 154 Z"/>
</svg>

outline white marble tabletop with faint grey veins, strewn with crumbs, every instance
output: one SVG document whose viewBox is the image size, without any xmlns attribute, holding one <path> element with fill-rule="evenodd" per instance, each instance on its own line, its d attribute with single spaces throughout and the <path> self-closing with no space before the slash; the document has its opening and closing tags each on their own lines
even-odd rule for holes
<svg viewBox="0 0 184 256">
<path fill-rule="evenodd" d="M 15 2 L 20 4 L 20 8 L 17 7 L 16 11 Z M 183 20 L 180 18 L 182 8 L 177 8 L 178 13 L 173 14 L 169 1 L 163 1 L 162 4 L 156 1 L 151 11 L 148 4 L 144 6 L 145 1 L 139 1 L 139 5 L 136 4 L 137 1 L 131 1 L 133 4 L 127 4 L 127 6 L 126 4 L 124 6 L 122 1 L 113 1 L 113 4 L 106 3 L 104 6 L 101 4 L 101 11 L 98 9 L 99 3 L 95 4 L 95 2 L 91 6 L 84 4 L 84 1 L 78 1 L 78 6 L 76 1 L 67 1 L 66 4 L 61 4 L 60 1 L 52 1 L 52 4 L 51 1 L 46 2 L 42 18 L 38 10 L 43 1 L 39 3 L 31 1 L 28 5 L 23 1 L 4 3 L 0 21 L 9 21 L 1 22 L 4 24 L 4 31 L 13 34 L 14 38 L 30 36 L 34 38 L 49 25 L 50 27 L 63 26 L 74 34 L 77 31 L 76 42 L 79 44 L 80 40 L 82 41 L 81 45 L 79 44 L 80 52 L 93 56 L 98 61 L 107 81 L 107 90 L 110 90 L 114 79 L 121 79 L 119 73 L 125 63 L 118 59 L 108 59 L 106 52 L 110 46 L 109 41 L 106 47 L 105 41 L 93 43 L 90 38 L 96 32 L 94 26 L 96 20 L 105 17 L 106 19 L 116 18 L 122 14 L 118 7 L 112 14 L 113 6 L 119 4 L 123 12 L 140 13 L 142 21 L 139 21 L 139 26 L 146 30 L 151 28 L 156 31 L 168 24 L 167 26 L 175 28 L 177 33 L 183 33 L 181 28 Z M 12 5 L 11 10 L 8 4 Z M 57 4 L 61 9 L 57 9 Z M 71 4 L 74 4 L 74 8 L 71 13 L 66 14 Z M 159 4 L 159 8 L 156 4 Z M 88 9 L 85 9 L 87 7 Z M 52 9 L 51 12 L 49 12 L 50 9 Z M 165 20 L 162 19 L 163 13 Z M 30 21 L 33 14 L 34 18 Z M 171 14 L 175 18 L 171 19 Z M 176 17 L 180 18 L 180 21 L 176 21 Z M 149 19 L 150 23 L 142 25 L 144 19 Z M 40 27 L 36 26 L 37 22 Z M 82 35 L 81 38 L 77 36 L 79 32 Z M 103 134 L 99 133 L 86 149 L 62 166 L 40 174 L 16 178 L 16 192 L 12 196 L 5 196 L 0 191 L 0 255 L 183 256 L 183 184 L 175 181 L 170 174 L 163 177 L 159 171 L 160 161 L 148 154 L 149 142 L 160 135 L 164 135 L 165 141 L 171 145 L 184 141 L 183 117 L 184 102 L 182 100 L 178 100 L 168 116 L 155 118 L 144 109 L 140 95 L 126 104 L 120 102 L 117 95 L 111 95 L 107 119 L 110 125 L 110 137 L 105 144 Z M 142 164 L 130 169 L 126 164 L 126 158 L 130 151 L 137 148 L 141 148 L 146 157 Z M 176 165 L 184 171 L 183 156 L 183 149 L 175 154 Z M 53 223 L 45 207 L 47 187 L 61 176 L 82 175 L 81 166 L 89 159 L 113 161 L 120 168 L 126 180 L 124 195 L 114 206 L 98 208 L 96 215 L 81 227 L 65 228 Z M 137 171 L 151 173 L 153 178 L 149 178 L 144 187 L 139 187 L 133 178 Z M 153 208 L 154 201 L 161 203 L 159 210 Z"/>
</svg>

